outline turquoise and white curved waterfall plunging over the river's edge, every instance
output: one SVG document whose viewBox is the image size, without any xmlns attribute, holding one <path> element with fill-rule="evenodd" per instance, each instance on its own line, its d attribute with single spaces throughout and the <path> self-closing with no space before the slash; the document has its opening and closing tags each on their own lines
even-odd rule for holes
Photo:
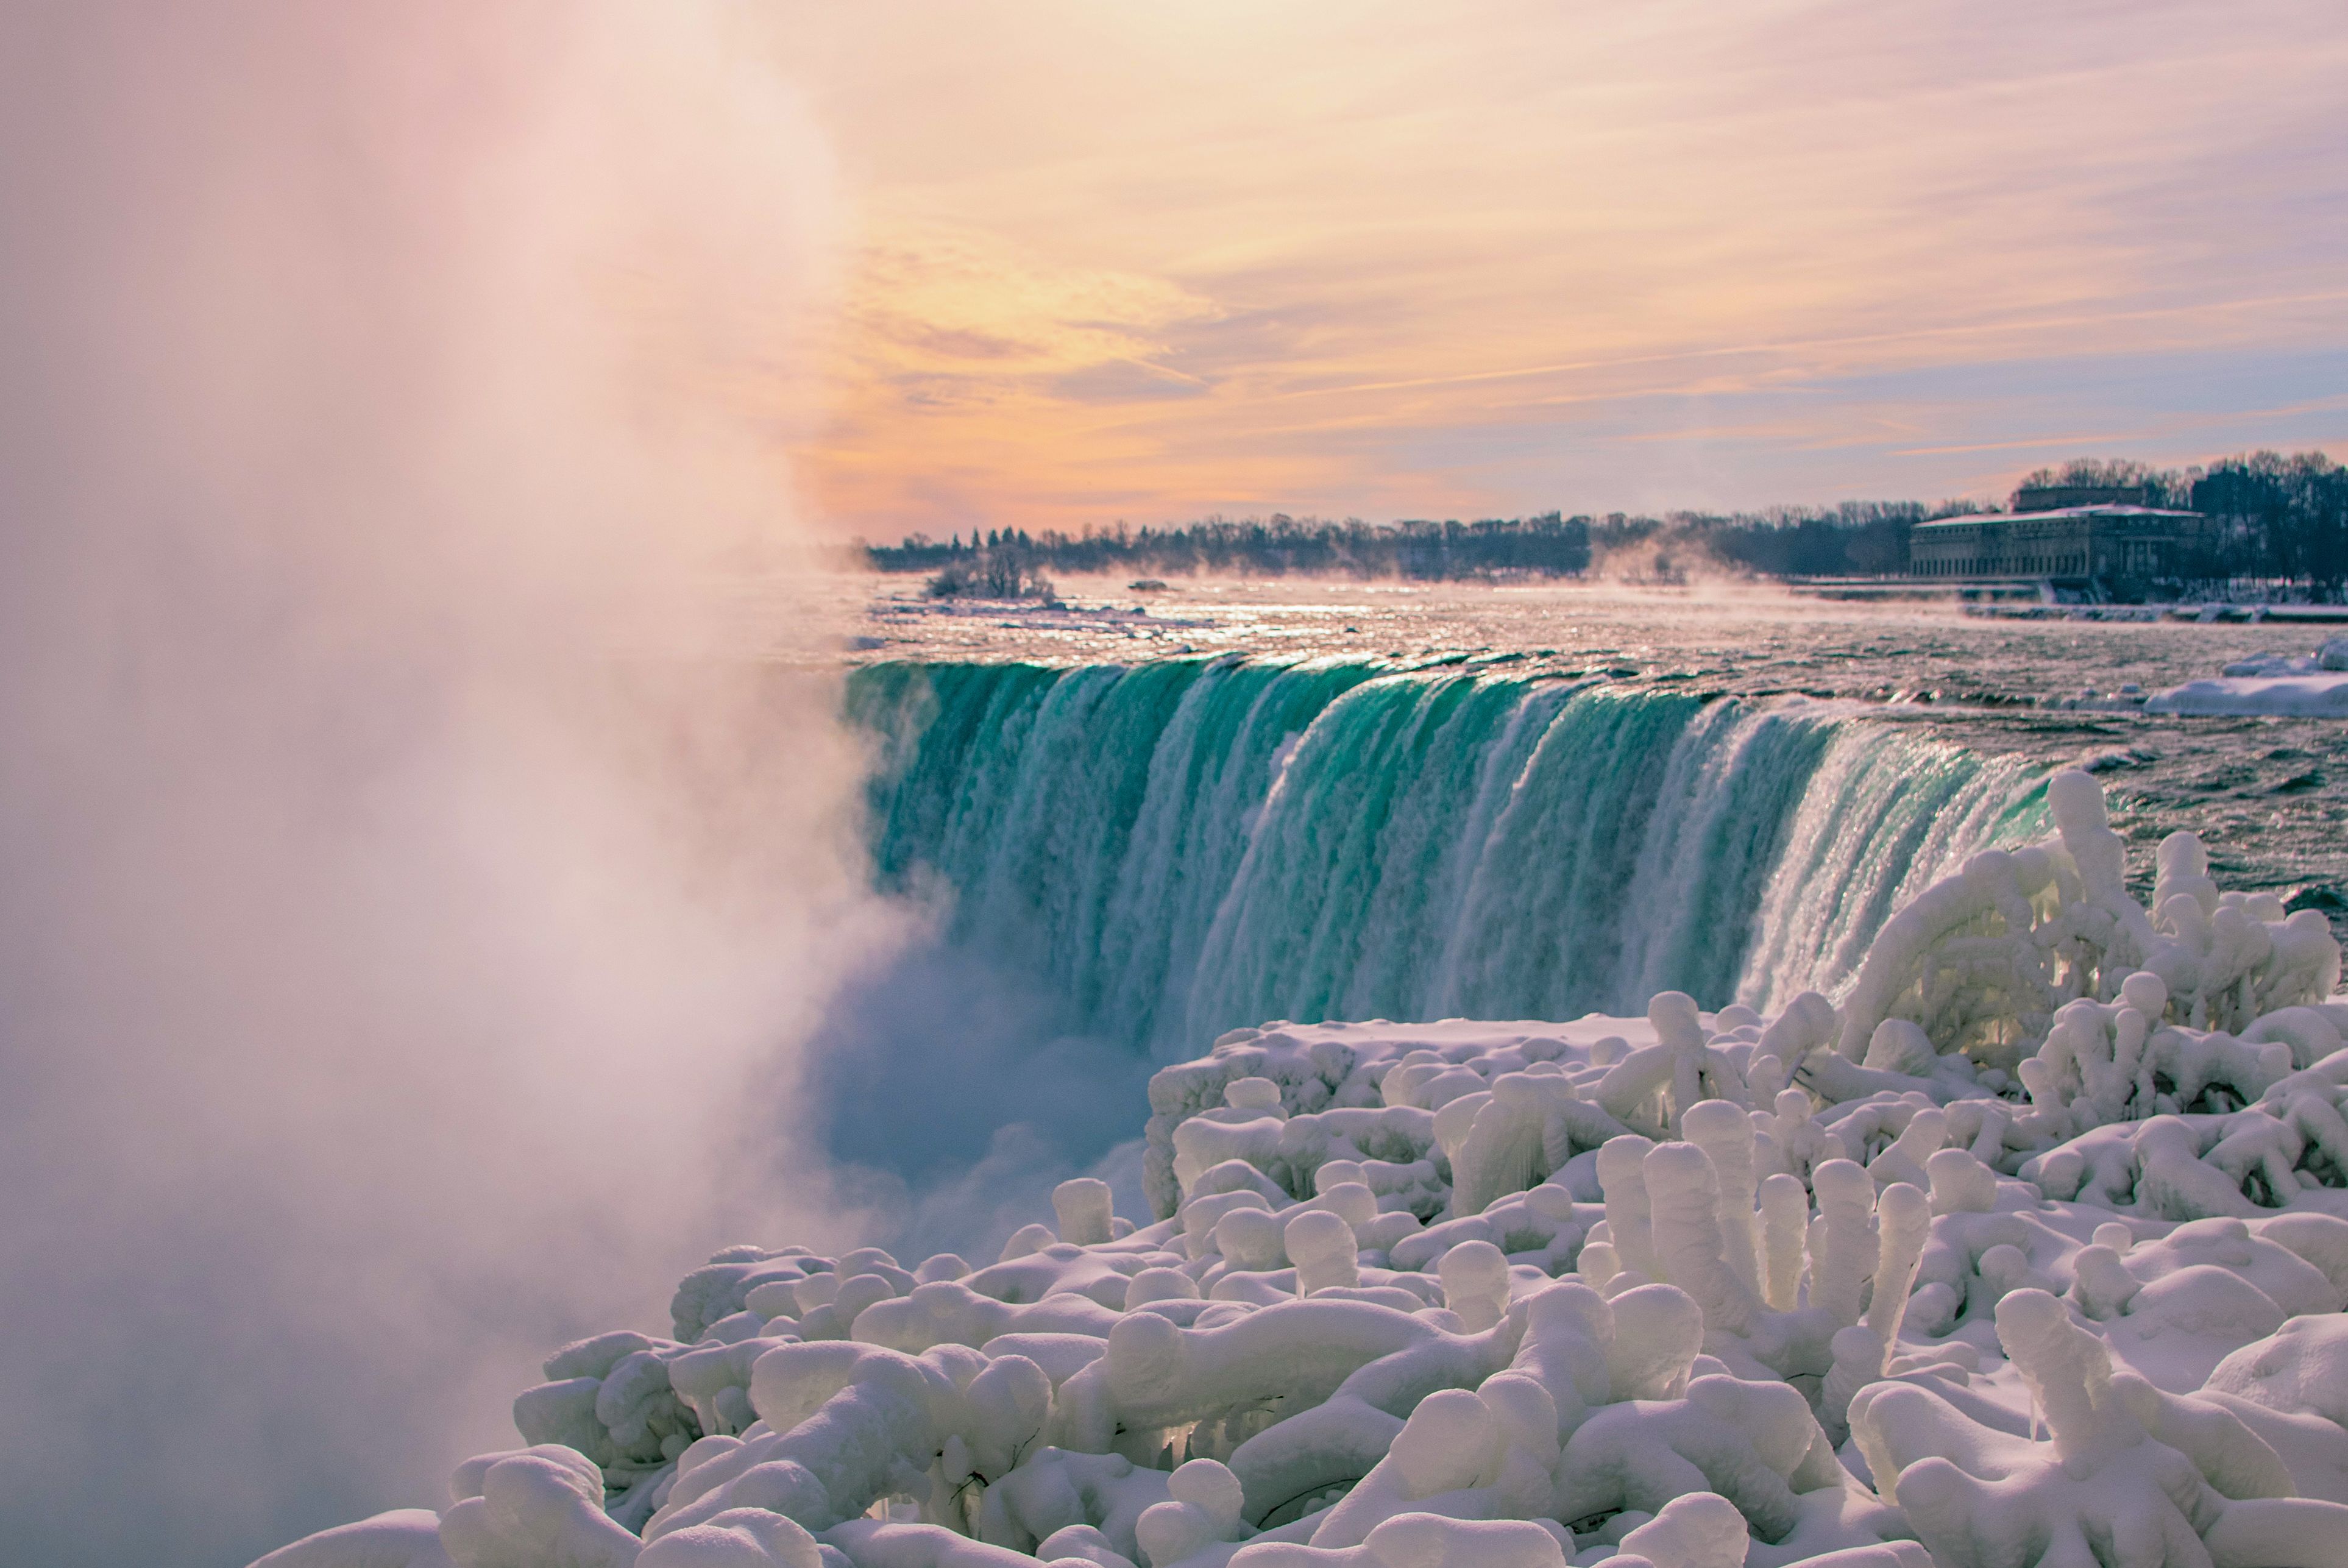
<svg viewBox="0 0 2348 1568">
<path fill-rule="evenodd" d="M 1073 1028 L 1777 1007 L 2040 829 L 2038 770 L 1848 704 L 1493 669 L 873 664 L 878 878 Z"/>
</svg>

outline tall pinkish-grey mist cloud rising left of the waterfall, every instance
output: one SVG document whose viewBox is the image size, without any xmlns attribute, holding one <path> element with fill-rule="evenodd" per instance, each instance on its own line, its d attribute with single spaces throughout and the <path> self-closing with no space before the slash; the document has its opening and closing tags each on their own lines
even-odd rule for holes
<svg viewBox="0 0 2348 1568">
<path fill-rule="evenodd" d="M 702 5 L 0 7 L 21 1561 L 437 1505 L 547 1347 L 843 1230 L 777 1136 L 890 932 L 859 756 L 709 594 L 789 563 L 787 68 Z"/>
</svg>

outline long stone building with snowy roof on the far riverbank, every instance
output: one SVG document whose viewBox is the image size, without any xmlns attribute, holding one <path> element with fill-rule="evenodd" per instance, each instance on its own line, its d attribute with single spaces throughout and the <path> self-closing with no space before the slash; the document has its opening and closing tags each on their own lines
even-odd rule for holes
<svg viewBox="0 0 2348 1568">
<path fill-rule="evenodd" d="M 2155 582 L 2188 575 L 2200 533 L 2198 512 L 2130 505 L 1951 516 L 1909 530 L 1909 575 L 2038 577 L 2090 596 L 2141 596 Z"/>
</svg>

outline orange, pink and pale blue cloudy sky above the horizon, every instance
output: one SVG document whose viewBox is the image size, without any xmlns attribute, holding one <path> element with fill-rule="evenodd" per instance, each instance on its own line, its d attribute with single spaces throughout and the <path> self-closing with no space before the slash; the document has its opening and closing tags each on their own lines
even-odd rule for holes
<svg viewBox="0 0 2348 1568">
<path fill-rule="evenodd" d="M 2336 0 L 770 14 L 838 538 L 2348 451 Z M 808 418 L 801 411 L 801 418 Z"/>
</svg>

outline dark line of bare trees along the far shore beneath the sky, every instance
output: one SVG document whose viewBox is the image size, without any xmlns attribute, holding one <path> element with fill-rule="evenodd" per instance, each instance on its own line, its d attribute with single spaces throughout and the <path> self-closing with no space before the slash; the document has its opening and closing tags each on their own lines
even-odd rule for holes
<svg viewBox="0 0 2348 1568">
<path fill-rule="evenodd" d="M 2339 596 L 2348 582 L 2348 469 L 2322 453 L 2252 453 L 2207 469 L 2083 458 L 2022 481 L 2024 491 L 2052 486 L 2132 491 L 2141 505 L 2202 512 L 2209 526 L 2195 556 L 2198 580 L 2306 584 L 2325 596 Z M 1160 528 L 1113 523 L 1078 535 L 1005 528 L 972 530 L 967 538 L 956 533 L 939 542 L 916 533 L 902 545 L 869 545 L 866 559 L 885 573 L 935 573 L 932 587 L 942 594 L 1003 596 L 1045 587 L 1045 570 L 1406 580 L 1592 573 L 1681 580 L 1707 570 L 1878 577 L 1907 570 L 1909 528 L 1916 523 L 2000 509 L 2000 502 L 1979 500 L 1885 500 L 1726 514 L 1545 512 L 1399 523 L 1275 512 L 1268 519 L 1209 516 Z"/>
</svg>

